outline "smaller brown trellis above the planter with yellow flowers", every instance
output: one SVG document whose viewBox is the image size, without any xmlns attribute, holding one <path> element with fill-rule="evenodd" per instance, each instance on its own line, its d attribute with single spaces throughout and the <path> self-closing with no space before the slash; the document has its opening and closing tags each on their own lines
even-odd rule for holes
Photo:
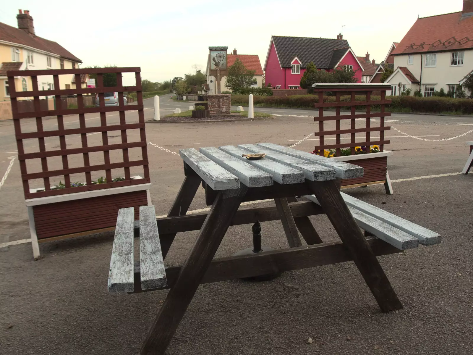
<svg viewBox="0 0 473 355">
<path fill-rule="evenodd" d="M 351 155 L 355 154 L 356 146 L 379 145 L 379 151 L 384 150 L 384 145 L 390 141 L 385 140 L 384 133 L 391 129 L 391 126 L 385 126 L 385 117 L 390 116 L 390 112 L 385 112 L 385 105 L 390 104 L 391 100 L 386 100 L 386 90 L 391 90 L 391 85 L 386 84 L 317 84 L 314 93 L 318 94 L 319 102 L 315 108 L 319 109 L 319 116 L 314 117 L 314 121 L 319 123 L 319 130 L 315 132 L 315 137 L 319 137 L 319 144 L 315 146 L 315 152 L 320 151 L 319 155 L 324 155 L 324 149 L 336 149 L 335 156 L 341 156 L 341 148 L 350 148 Z M 335 94 L 335 102 L 324 102 L 324 92 L 331 91 Z M 373 91 L 380 92 L 379 100 L 372 100 Z M 341 101 L 342 95 L 350 95 L 350 101 Z M 365 99 L 357 101 L 356 95 L 365 95 Z M 372 105 L 380 105 L 380 112 L 371 112 Z M 341 107 L 350 107 L 350 115 L 341 115 Z M 357 106 L 365 106 L 365 112 L 356 113 Z M 324 116 L 324 108 L 335 107 L 335 115 Z M 379 126 L 371 126 L 371 118 L 379 117 Z M 341 121 L 349 120 L 350 128 L 341 129 Z M 356 127 L 356 121 L 361 122 L 362 127 Z M 362 120 L 366 120 L 362 122 Z M 335 121 L 335 130 L 324 131 L 324 122 Z M 379 132 L 379 140 L 371 139 L 371 132 Z M 361 140 L 356 137 L 356 133 L 366 133 Z M 350 142 L 342 142 L 342 134 L 350 134 Z M 335 143 L 326 144 L 326 136 L 335 136 Z"/>
</svg>

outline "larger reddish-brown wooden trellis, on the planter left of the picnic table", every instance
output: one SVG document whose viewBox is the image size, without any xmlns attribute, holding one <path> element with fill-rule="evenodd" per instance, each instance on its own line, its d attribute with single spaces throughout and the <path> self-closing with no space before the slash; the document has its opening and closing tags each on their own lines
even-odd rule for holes
<svg viewBox="0 0 473 355">
<path fill-rule="evenodd" d="M 135 86 L 123 86 L 122 73 L 123 72 L 134 72 L 136 78 Z M 80 83 L 80 74 L 97 74 L 96 88 L 75 88 L 75 89 L 58 89 L 59 86 L 59 75 L 73 74 L 75 75 L 75 82 Z M 104 87 L 103 85 L 103 74 L 105 73 L 116 73 L 117 75 L 117 86 L 116 87 Z M 53 90 L 38 90 L 38 79 L 40 75 L 53 75 L 54 89 Z M 141 77 L 140 67 L 135 68 L 87 68 L 87 69 L 61 69 L 61 70 L 28 70 L 28 71 L 8 71 L 7 72 L 10 89 L 11 108 L 13 114 L 13 122 L 15 125 L 15 135 L 18 146 L 18 160 L 20 164 L 21 178 L 23 180 L 23 189 L 25 198 L 36 198 L 46 197 L 53 195 L 64 195 L 76 192 L 90 191 L 106 189 L 111 187 L 119 186 L 130 186 L 149 183 L 149 167 L 148 167 L 148 151 L 146 147 L 146 134 L 145 134 L 145 121 L 143 113 L 143 96 L 141 92 Z M 31 91 L 17 91 L 15 88 L 15 77 L 31 77 L 33 90 Z M 125 106 L 123 101 L 123 92 L 125 91 L 136 91 L 137 105 Z M 118 106 L 105 107 L 105 92 L 118 92 Z M 84 106 L 84 94 L 98 94 L 99 107 L 85 107 Z M 55 96 L 56 108 L 54 110 L 44 110 L 40 107 L 40 96 Z M 77 108 L 67 109 L 62 107 L 61 95 L 77 95 Z M 18 112 L 18 101 L 17 98 L 33 97 L 34 98 L 34 111 L 31 112 Z M 125 111 L 138 110 L 138 123 L 127 124 L 125 121 Z M 106 113 L 107 112 L 119 112 L 120 124 L 107 125 Z M 88 113 L 99 113 L 100 114 L 100 126 L 87 127 L 85 114 Z M 79 115 L 79 126 L 80 128 L 64 128 L 63 115 Z M 43 130 L 43 117 L 45 116 L 57 116 L 57 130 L 44 131 Z M 36 132 L 22 133 L 20 120 L 24 118 L 35 118 L 36 119 Z M 140 141 L 139 142 L 128 142 L 127 141 L 127 130 L 139 129 L 140 130 Z M 109 144 L 108 132 L 109 131 L 121 131 L 122 142 L 120 144 Z M 102 133 L 102 145 L 99 146 L 88 146 L 87 133 Z M 80 134 L 81 136 L 81 148 L 67 149 L 66 147 L 66 136 L 71 134 Z M 59 137 L 60 149 L 46 151 L 44 138 L 45 137 Z M 39 151 L 32 153 L 25 153 L 23 140 L 24 139 L 38 139 Z M 141 160 L 130 160 L 128 155 L 129 148 L 141 147 Z M 110 151 L 122 150 L 123 160 L 111 161 Z M 89 153 L 102 151 L 104 154 L 104 164 L 90 165 Z M 69 168 L 69 156 L 71 154 L 82 154 L 83 166 L 78 168 Z M 61 157 L 62 169 L 50 170 L 48 169 L 49 157 Z M 41 172 L 28 173 L 26 170 L 26 160 L 40 159 L 41 160 Z M 144 178 L 131 179 L 130 168 L 142 166 Z M 111 169 L 124 169 L 124 181 L 112 182 Z M 91 178 L 92 171 L 104 171 L 107 183 L 105 184 L 93 184 Z M 84 173 L 86 186 L 71 187 L 70 175 Z M 52 190 L 50 186 L 50 177 L 63 177 L 64 189 Z M 29 180 L 42 178 L 44 182 L 44 191 L 30 193 Z"/>
</svg>

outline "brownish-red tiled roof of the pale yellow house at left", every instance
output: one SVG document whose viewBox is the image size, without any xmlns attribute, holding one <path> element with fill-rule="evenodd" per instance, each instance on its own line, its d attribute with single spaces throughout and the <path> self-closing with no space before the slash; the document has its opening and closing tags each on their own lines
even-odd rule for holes
<svg viewBox="0 0 473 355">
<path fill-rule="evenodd" d="M 79 58 L 77 58 L 74 54 L 70 53 L 60 44 L 44 39 L 42 37 L 38 37 L 36 35 L 28 35 L 25 31 L 20 30 L 16 27 L 11 27 L 2 22 L 0 22 L 0 40 L 27 45 L 29 47 L 33 47 L 45 52 L 57 54 L 65 59 L 69 59 L 79 63 L 82 62 Z"/>
</svg>

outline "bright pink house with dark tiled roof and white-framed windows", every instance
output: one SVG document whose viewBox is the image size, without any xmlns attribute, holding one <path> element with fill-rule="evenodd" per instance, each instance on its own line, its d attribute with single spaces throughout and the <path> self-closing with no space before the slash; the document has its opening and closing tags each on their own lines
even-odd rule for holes
<svg viewBox="0 0 473 355">
<path fill-rule="evenodd" d="M 302 74 L 310 62 L 314 62 L 318 70 L 329 72 L 351 66 L 354 78 L 361 82 L 363 67 L 348 41 L 339 34 L 337 39 L 271 36 L 264 63 L 266 84 L 274 89 L 299 89 Z"/>
</svg>

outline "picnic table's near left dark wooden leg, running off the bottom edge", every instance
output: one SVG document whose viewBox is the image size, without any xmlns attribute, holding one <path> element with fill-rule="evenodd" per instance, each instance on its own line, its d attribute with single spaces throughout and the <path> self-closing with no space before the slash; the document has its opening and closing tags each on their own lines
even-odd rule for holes
<svg viewBox="0 0 473 355">
<path fill-rule="evenodd" d="M 191 303 L 247 189 L 242 184 L 239 189 L 224 190 L 218 193 L 191 252 L 181 267 L 174 286 L 167 294 L 166 300 L 141 346 L 141 355 L 165 353 L 166 347 L 174 336 L 189 303 Z"/>
</svg>

